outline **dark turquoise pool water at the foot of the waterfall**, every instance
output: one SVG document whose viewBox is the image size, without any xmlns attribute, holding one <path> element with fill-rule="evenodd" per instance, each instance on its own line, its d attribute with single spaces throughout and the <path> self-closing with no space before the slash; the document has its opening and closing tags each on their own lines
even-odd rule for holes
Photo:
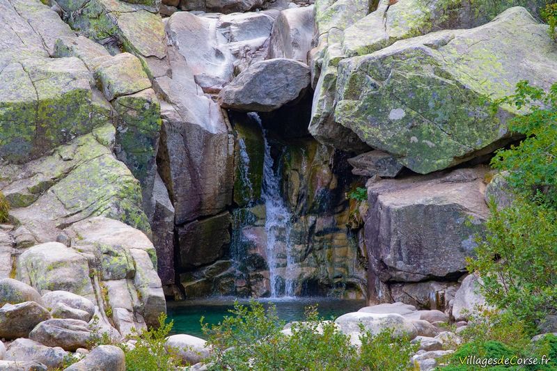
<svg viewBox="0 0 557 371">
<path fill-rule="evenodd" d="M 173 333 L 187 333 L 203 338 L 199 319 L 205 317 L 205 322 L 217 324 L 225 315 L 230 315 L 228 310 L 234 306 L 235 298 L 218 298 L 191 301 L 168 302 L 168 319 L 174 320 Z M 238 302 L 247 304 L 246 299 L 237 299 Z M 363 300 L 340 300 L 329 298 L 277 298 L 259 299 L 268 306 L 274 303 L 278 317 L 287 322 L 304 319 L 306 306 L 317 304 L 317 311 L 321 317 L 331 319 L 349 312 L 355 312 L 366 306 Z"/>
</svg>

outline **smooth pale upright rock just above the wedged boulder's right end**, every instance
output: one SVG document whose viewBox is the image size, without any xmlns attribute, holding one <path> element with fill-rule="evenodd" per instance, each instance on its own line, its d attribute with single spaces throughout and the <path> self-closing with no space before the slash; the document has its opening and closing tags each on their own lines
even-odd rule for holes
<svg viewBox="0 0 557 371">
<path fill-rule="evenodd" d="M 313 6 L 281 11 L 273 24 L 267 58 L 289 58 L 308 63 L 313 34 Z"/>
</svg>

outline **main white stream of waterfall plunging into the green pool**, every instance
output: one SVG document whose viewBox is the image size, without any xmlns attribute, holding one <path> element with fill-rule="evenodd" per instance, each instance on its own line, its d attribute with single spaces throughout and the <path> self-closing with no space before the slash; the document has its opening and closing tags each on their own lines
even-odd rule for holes
<svg viewBox="0 0 557 371">
<path fill-rule="evenodd" d="M 261 195 L 265 201 L 265 232 L 267 233 L 267 264 L 269 265 L 269 278 L 271 284 L 271 297 L 279 297 L 282 294 L 280 274 L 278 269 L 281 267 L 280 260 L 281 244 L 285 245 L 285 265 L 284 265 L 284 296 L 294 296 L 295 282 L 292 279 L 294 267 L 294 257 L 290 242 L 290 231 L 292 229 L 292 214 L 281 196 L 281 177 L 280 171 L 274 171 L 274 161 L 271 157 L 271 146 L 267 140 L 267 130 L 262 127 L 261 120 L 257 113 L 249 113 L 249 116 L 256 120 L 263 134 L 265 144 L 265 155 L 263 162 L 263 181 Z"/>
</svg>

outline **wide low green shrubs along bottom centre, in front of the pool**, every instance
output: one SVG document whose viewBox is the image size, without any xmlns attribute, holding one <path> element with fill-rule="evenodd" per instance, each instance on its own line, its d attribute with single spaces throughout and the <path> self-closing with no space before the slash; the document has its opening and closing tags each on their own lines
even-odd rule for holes
<svg viewBox="0 0 557 371">
<path fill-rule="evenodd" d="M 334 322 L 306 310 L 306 321 L 295 322 L 291 335 L 281 332 L 284 322 L 271 306 L 265 310 L 252 301 L 236 303 L 217 325 L 203 324 L 207 345 L 212 347 L 210 370 L 393 370 L 407 369 L 416 345 L 409 339 L 393 339 L 391 331 L 360 336 L 361 351 Z"/>
</svg>

